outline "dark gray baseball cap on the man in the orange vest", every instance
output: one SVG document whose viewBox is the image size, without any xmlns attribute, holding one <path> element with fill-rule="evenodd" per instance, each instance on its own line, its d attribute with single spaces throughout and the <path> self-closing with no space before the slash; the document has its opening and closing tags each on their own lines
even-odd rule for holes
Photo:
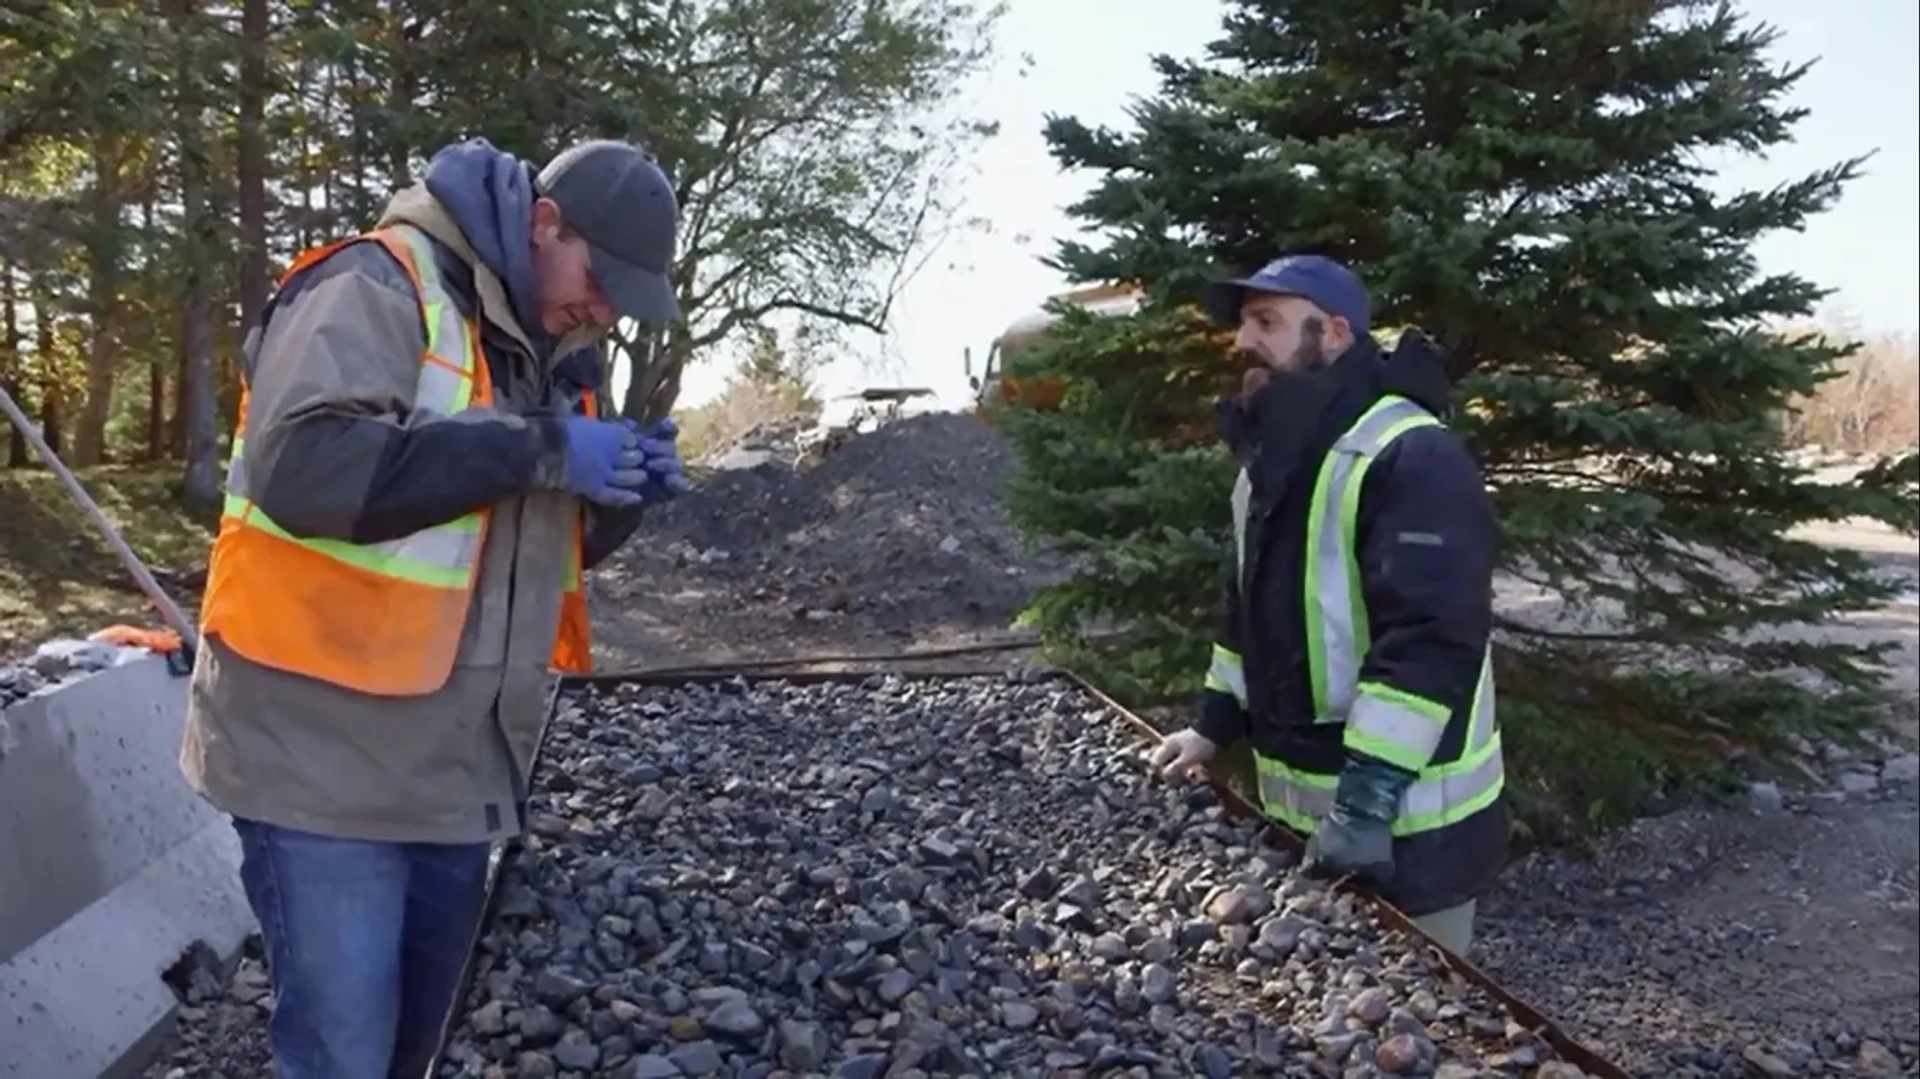
<svg viewBox="0 0 1920 1079">
<path fill-rule="evenodd" d="M 653 154 L 595 138 L 563 150 L 534 180 L 593 252 L 593 278 L 612 309 L 639 323 L 680 319 L 668 276 L 680 207 Z"/>
</svg>

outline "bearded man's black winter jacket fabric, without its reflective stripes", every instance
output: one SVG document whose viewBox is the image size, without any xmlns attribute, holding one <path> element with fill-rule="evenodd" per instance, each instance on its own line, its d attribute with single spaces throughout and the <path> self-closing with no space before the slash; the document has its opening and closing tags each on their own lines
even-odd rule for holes
<svg viewBox="0 0 1920 1079">
<path fill-rule="evenodd" d="M 1246 561 L 1223 587 L 1219 643 L 1242 657 L 1248 707 L 1208 691 L 1196 730 L 1217 745 L 1248 739 L 1292 768 L 1334 776 L 1348 751 L 1338 724 L 1313 724 L 1306 637 L 1308 507 L 1321 461 L 1382 396 L 1450 415 L 1442 355 L 1409 334 L 1392 355 L 1371 340 L 1313 376 L 1277 376 L 1250 403 L 1223 401 L 1221 426 L 1252 480 Z M 1467 712 L 1492 634 L 1498 522 L 1478 465 L 1444 426 L 1417 426 L 1369 467 L 1356 547 L 1371 647 L 1361 680 Z M 1457 756 L 1453 724 L 1436 758 Z M 1501 803 L 1396 843 L 1384 897 L 1430 914 L 1482 895 L 1507 849 Z"/>
</svg>

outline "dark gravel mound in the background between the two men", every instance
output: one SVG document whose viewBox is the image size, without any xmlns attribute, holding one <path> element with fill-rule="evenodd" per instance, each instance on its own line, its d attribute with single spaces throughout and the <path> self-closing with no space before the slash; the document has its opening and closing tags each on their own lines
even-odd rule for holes
<svg viewBox="0 0 1920 1079">
<path fill-rule="evenodd" d="M 927 413 L 849 440 L 812 468 L 714 472 L 649 511 L 599 587 L 655 589 L 689 568 L 801 618 L 883 632 L 1000 628 L 1058 563 L 1002 515 L 1014 453 L 981 420 Z"/>
</svg>

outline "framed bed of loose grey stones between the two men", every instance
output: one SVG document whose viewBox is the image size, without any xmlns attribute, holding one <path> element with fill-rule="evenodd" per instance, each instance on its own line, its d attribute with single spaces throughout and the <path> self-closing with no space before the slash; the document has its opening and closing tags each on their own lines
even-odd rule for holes
<svg viewBox="0 0 1920 1079">
<path fill-rule="evenodd" d="M 576 697 L 532 831 L 444 1077 L 1582 1075 L 1062 682 Z"/>
</svg>

